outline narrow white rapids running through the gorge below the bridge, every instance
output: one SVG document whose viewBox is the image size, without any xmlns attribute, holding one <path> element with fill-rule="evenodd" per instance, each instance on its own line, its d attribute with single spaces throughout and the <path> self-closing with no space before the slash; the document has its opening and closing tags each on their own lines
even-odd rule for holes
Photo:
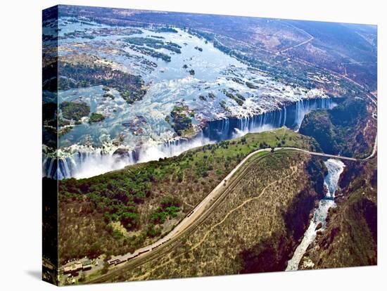
<svg viewBox="0 0 387 291">
<path fill-rule="evenodd" d="M 326 216 L 328 216 L 329 208 L 336 207 L 334 202 L 334 195 L 338 189 L 338 179 L 343 172 L 345 164 L 343 164 L 343 162 L 340 160 L 333 159 L 327 160 L 324 162 L 324 164 L 328 169 L 328 174 L 326 174 L 324 178 L 324 185 L 326 187 L 325 197 L 319 201 L 319 206 L 317 209 L 315 209 L 315 213 L 313 214 L 313 218 L 310 221 L 309 227 L 304 233 L 303 240 L 296 248 L 293 257 L 288 261 L 286 271 L 298 270 L 298 265 L 300 264 L 300 261 L 303 258 L 307 247 L 309 247 L 309 245 L 315 241 L 317 236 L 317 226 L 321 223 L 321 230 L 324 231 L 326 228 Z"/>
</svg>

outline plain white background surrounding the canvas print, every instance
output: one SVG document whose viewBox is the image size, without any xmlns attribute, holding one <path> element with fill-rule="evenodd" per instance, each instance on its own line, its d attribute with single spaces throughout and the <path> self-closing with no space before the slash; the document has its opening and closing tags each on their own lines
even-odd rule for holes
<svg viewBox="0 0 387 291">
<path fill-rule="evenodd" d="M 0 288 L 52 290 L 41 269 L 42 9 L 56 1 L 1 1 Z M 386 288 L 386 11 L 383 1 L 61 1 L 163 11 L 357 22 L 379 25 L 379 266 L 292 273 L 160 280 L 70 287 L 72 290 L 380 290 Z M 383 19 L 384 18 L 384 19 Z M 386 177 L 386 176 L 385 176 Z M 22 289 L 23 288 L 23 289 Z M 82 289 L 81 289 L 82 288 Z M 384 289 L 386 290 L 386 289 Z"/>
</svg>

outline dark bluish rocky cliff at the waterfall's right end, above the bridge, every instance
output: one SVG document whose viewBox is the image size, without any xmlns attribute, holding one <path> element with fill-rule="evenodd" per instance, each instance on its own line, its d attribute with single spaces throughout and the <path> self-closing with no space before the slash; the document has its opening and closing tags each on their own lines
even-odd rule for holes
<svg viewBox="0 0 387 291">
<path fill-rule="evenodd" d="M 325 153 L 366 157 L 372 153 L 376 135 L 372 110 L 360 98 L 347 98 L 336 108 L 305 115 L 300 134 L 314 137 Z"/>
</svg>

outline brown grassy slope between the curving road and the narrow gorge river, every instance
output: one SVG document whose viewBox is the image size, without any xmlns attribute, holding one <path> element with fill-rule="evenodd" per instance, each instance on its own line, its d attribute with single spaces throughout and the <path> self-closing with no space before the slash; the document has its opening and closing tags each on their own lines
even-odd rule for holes
<svg viewBox="0 0 387 291">
<path fill-rule="evenodd" d="M 262 156 L 230 183 L 227 196 L 194 232 L 110 280 L 284 270 L 321 198 L 315 189 L 322 189 L 323 176 L 322 161 L 304 153 Z"/>
</svg>

